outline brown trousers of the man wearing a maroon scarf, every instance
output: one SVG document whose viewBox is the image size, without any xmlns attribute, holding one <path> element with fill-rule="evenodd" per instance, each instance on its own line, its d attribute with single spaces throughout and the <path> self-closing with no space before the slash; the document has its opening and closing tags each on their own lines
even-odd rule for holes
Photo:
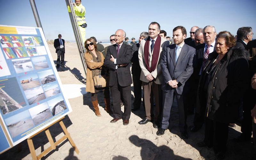
<svg viewBox="0 0 256 160">
<path fill-rule="evenodd" d="M 154 81 L 150 81 L 148 83 L 142 82 L 142 88 L 144 92 L 144 102 L 145 102 L 145 111 L 146 111 L 146 118 L 148 120 L 156 120 L 156 123 L 161 122 L 162 116 L 162 89 L 161 84 L 156 84 Z M 156 111 L 154 116 L 154 98 L 156 104 Z"/>
</svg>

